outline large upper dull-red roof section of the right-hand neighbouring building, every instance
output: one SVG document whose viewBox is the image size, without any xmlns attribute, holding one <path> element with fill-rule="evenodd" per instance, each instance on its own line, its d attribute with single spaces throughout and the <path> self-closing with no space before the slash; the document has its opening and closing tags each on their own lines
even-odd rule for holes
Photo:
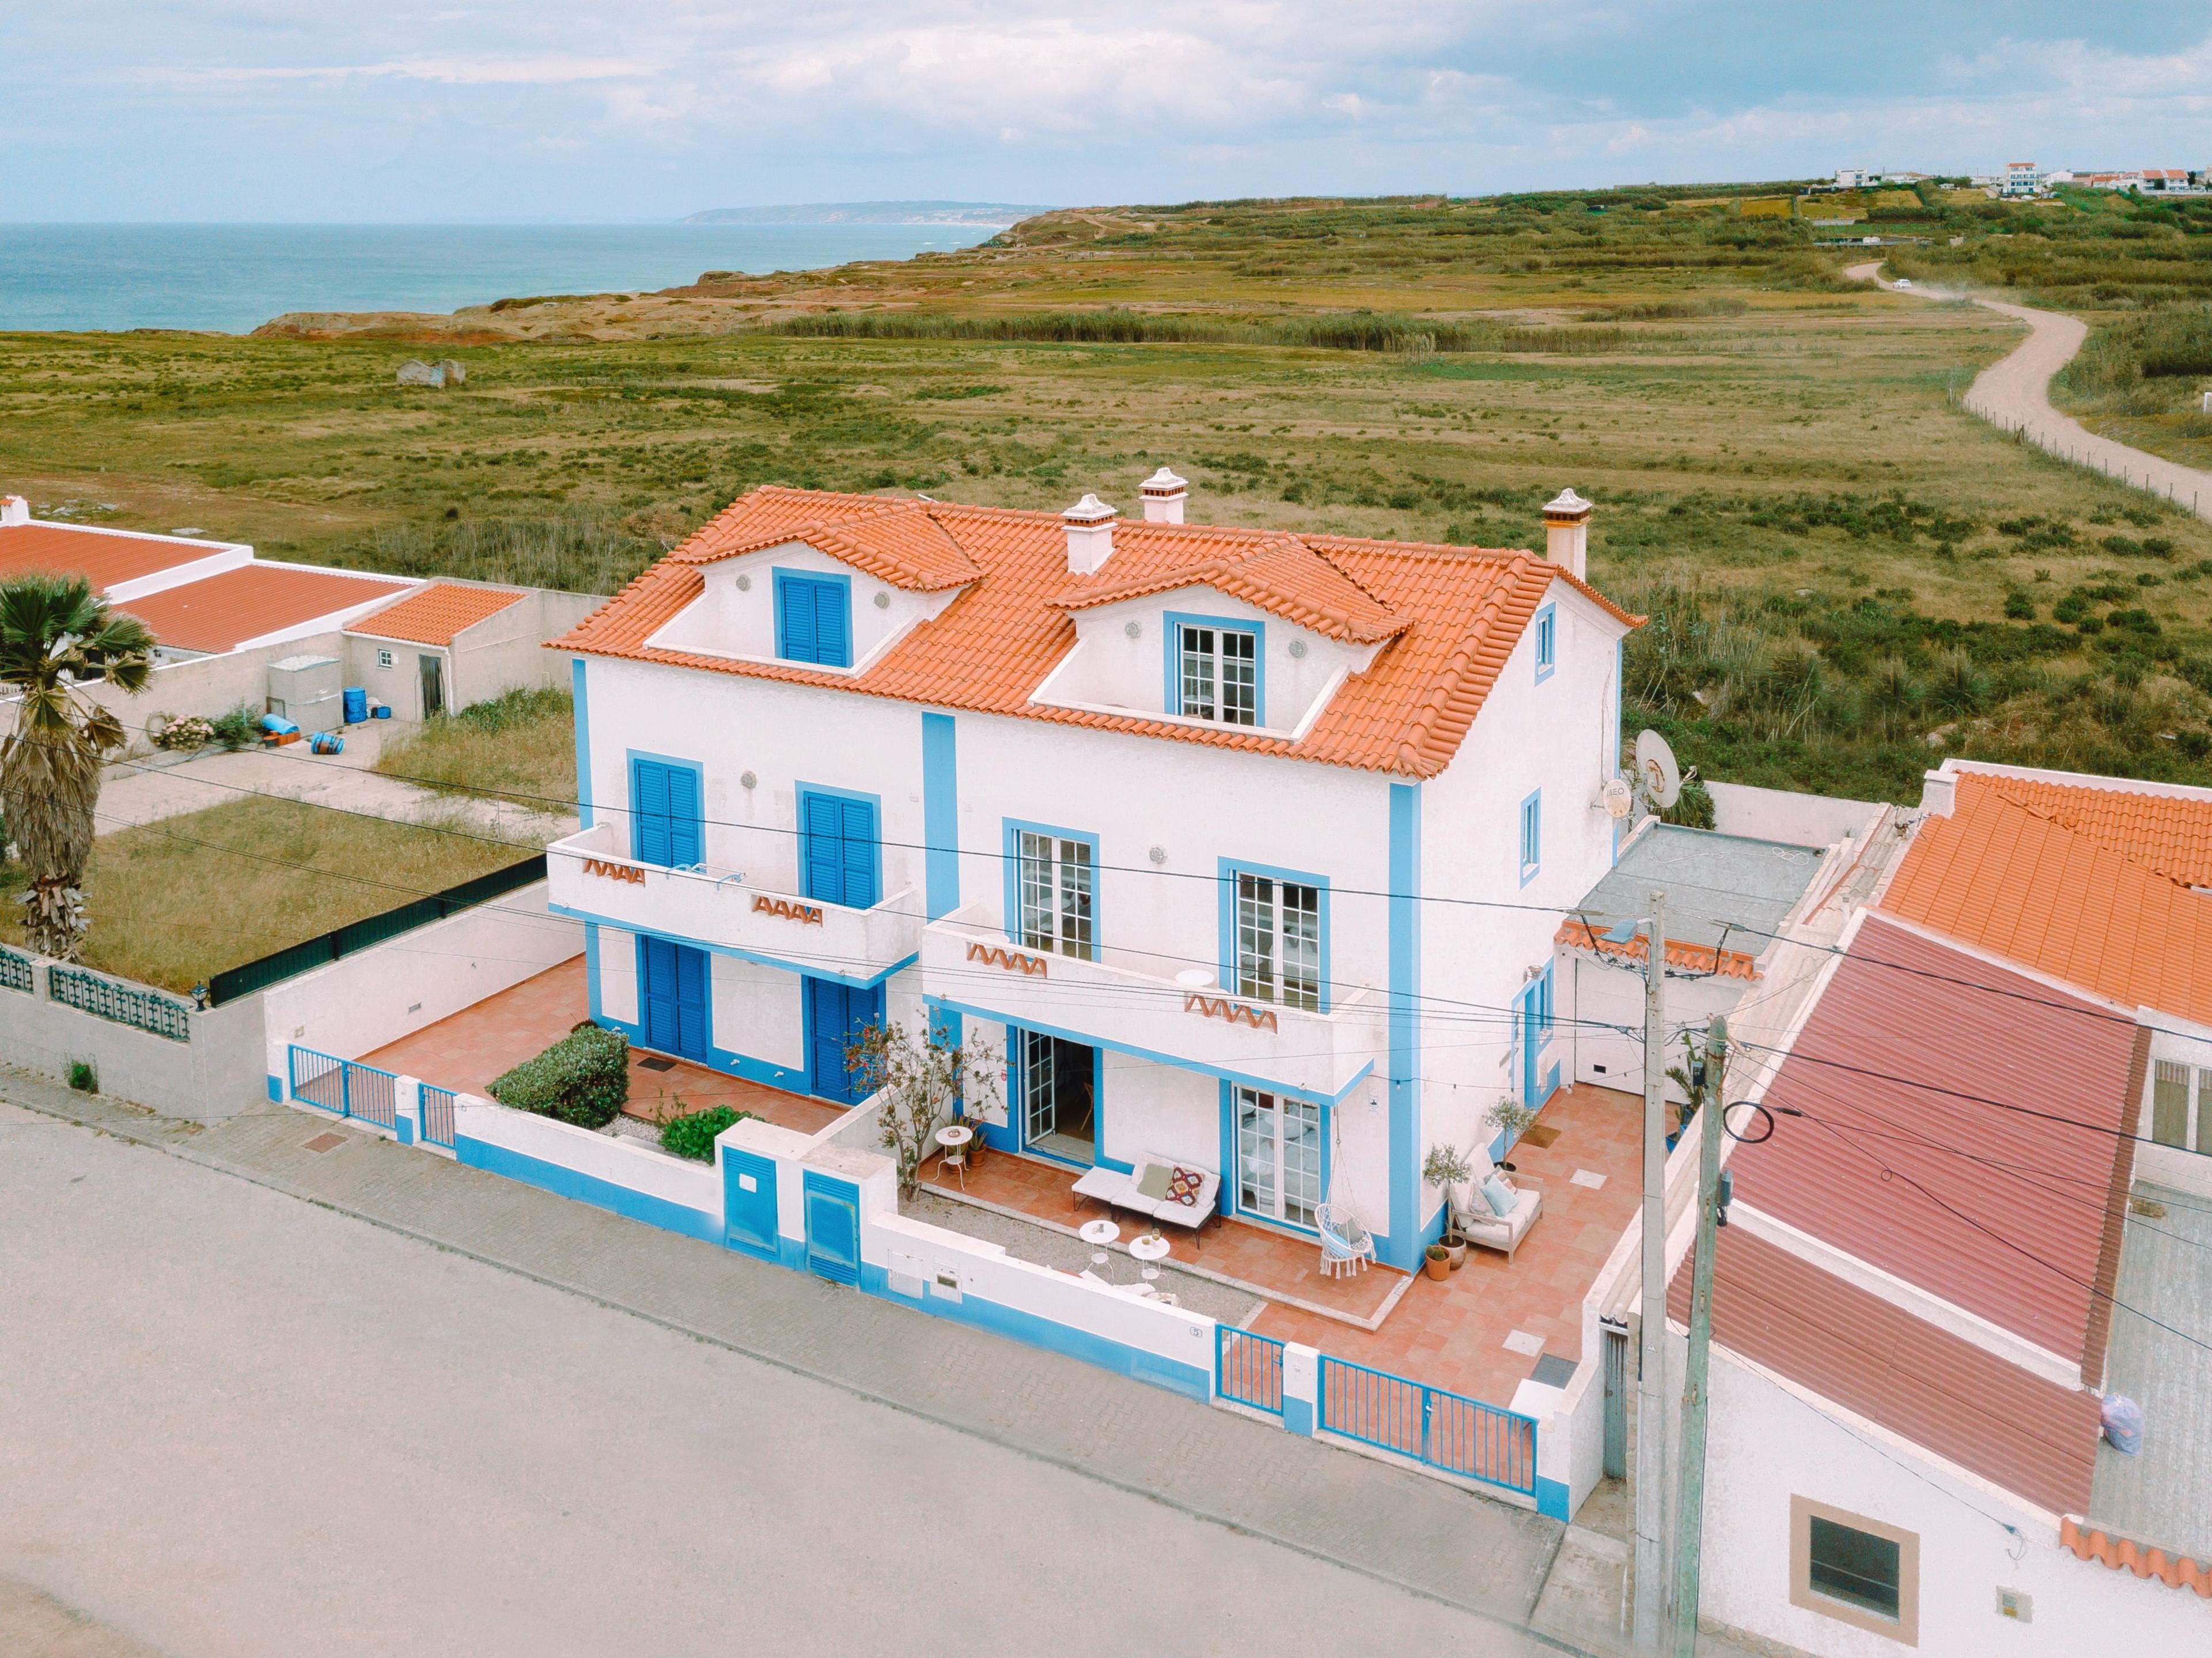
<svg viewBox="0 0 2212 1658">
<path fill-rule="evenodd" d="M 2146 1054 L 2124 1014 L 1869 914 L 1763 1096 L 1805 1116 L 1736 1147 L 1736 1198 L 2095 1386 Z"/>
</svg>

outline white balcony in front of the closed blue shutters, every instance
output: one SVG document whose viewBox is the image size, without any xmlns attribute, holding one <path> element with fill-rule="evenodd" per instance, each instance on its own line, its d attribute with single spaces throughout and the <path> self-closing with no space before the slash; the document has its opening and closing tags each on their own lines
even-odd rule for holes
<svg viewBox="0 0 2212 1658">
<path fill-rule="evenodd" d="M 922 903 L 914 888 L 872 910 L 748 885 L 741 870 L 639 863 L 613 823 L 595 823 L 546 848 L 555 910 L 734 950 L 792 972 L 874 981 L 920 950 Z"/>
</svg>

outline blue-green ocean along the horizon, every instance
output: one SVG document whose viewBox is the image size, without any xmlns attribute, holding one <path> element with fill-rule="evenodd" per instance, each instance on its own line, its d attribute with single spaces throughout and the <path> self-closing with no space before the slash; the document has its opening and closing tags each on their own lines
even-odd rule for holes
<svg viewBox="0 0 2212 1658">
<path fill-rule="evenodd" d="M 0 330 L 210 328 L 456 310 L 971 248 L 964 224 L 0 224 Z"/>
</svg>

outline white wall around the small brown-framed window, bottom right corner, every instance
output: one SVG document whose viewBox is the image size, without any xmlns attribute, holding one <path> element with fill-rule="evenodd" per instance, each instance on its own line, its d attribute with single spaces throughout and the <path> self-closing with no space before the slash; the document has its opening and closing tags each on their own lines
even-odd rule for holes
<svg viewBox="0 0 2212 1658">
<path fill-rule="evenodd" d="M 1708 1618 L 1820 1658 L 1902 1649 L 1790 1603 L 1790 1499 L 1805 1496 L 1920 1538 L 1924 1654 L 2212 1651 L 2212 1600 L 2077 1561 L 2057 1541 L 2057 1516 L 1723 1348 L 1712 1355 L 1710 1421 L 1699 1596 Z M 2031 1623 L 1997 1616 L 2000 1587 L 2033 1596 Z"/>
</svg>

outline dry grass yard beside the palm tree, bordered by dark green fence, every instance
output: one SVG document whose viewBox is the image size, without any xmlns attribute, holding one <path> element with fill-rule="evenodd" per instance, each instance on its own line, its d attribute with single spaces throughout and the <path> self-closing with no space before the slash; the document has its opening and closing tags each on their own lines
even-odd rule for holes
<svg viewBox="0 0 2212 1658">
<path fill-rule="evenodd" d="M 241 799 L 93 843 L 84 961 L 190 992 L 223 967 L 394 910 L 535 848 L 288 799 Z M 15 905 L 0 941 L 22 943 Z"/>
</svg>

